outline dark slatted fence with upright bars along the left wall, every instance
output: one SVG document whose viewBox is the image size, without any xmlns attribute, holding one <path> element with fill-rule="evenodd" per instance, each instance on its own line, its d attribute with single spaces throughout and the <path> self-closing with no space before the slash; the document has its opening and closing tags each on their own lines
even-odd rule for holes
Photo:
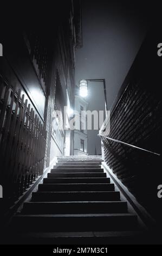
<svg viewBox="0 0 162 256">
<path fill-rule="evenodd" d="M 21 94 L 1 78 L 0 180 L 11 202 L 43 174 L 46 149 L 46 126 Z"/>
</svg>

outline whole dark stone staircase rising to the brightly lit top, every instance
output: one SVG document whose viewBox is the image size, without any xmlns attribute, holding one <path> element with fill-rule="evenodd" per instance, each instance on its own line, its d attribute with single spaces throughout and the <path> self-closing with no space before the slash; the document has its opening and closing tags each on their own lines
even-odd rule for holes
<svg viewBox="0 0 162 256">
<path fill-rule="evenodd" d="M 137 216 L 120 200 L 100 156 L 58 157 L 11 225 L 23 243 L 132 243 L 139 237 Z"/>
</svg>

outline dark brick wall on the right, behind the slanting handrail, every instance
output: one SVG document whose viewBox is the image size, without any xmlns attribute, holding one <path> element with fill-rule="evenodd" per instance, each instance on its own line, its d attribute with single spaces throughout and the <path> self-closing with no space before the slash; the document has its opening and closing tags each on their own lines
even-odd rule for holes
<svg viewBox="0 0 162 256">
<path fill-rule="evenodd" d="M 108 137 L 161 153 L 161 77 L 156 39 L 155 35 L 148 34 L 122 84 L 112 107 Z M 160 219 L 157 186 L 162 184 L 161 156 L 106 138 L 103 142 L 105 160 L 113 173 L 155 218 Z"/>
</svg>

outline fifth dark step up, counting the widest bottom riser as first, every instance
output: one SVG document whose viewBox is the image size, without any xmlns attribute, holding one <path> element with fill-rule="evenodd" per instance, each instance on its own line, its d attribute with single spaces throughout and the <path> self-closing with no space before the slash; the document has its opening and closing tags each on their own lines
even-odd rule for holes
<svg viewBox="0 0 162 256">
<path fill-rule="evenodd" d="M 100 184 L 110 183 L 110 178 L 44 178 L 43 184 Z"/>
</svg>

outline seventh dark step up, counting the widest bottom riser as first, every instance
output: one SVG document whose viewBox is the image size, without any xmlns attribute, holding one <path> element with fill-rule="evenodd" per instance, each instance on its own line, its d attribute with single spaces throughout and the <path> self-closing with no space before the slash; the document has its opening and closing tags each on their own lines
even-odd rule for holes
<svg viewBox="0 0 162 256">
<path fill-rule="evenodd" d="M 51 169 L 50 171 L 51 173 L 103 173 L 103 169 L 96 169 L 96 168 L 55 168 L 55 169 Z"/>
</svg>

